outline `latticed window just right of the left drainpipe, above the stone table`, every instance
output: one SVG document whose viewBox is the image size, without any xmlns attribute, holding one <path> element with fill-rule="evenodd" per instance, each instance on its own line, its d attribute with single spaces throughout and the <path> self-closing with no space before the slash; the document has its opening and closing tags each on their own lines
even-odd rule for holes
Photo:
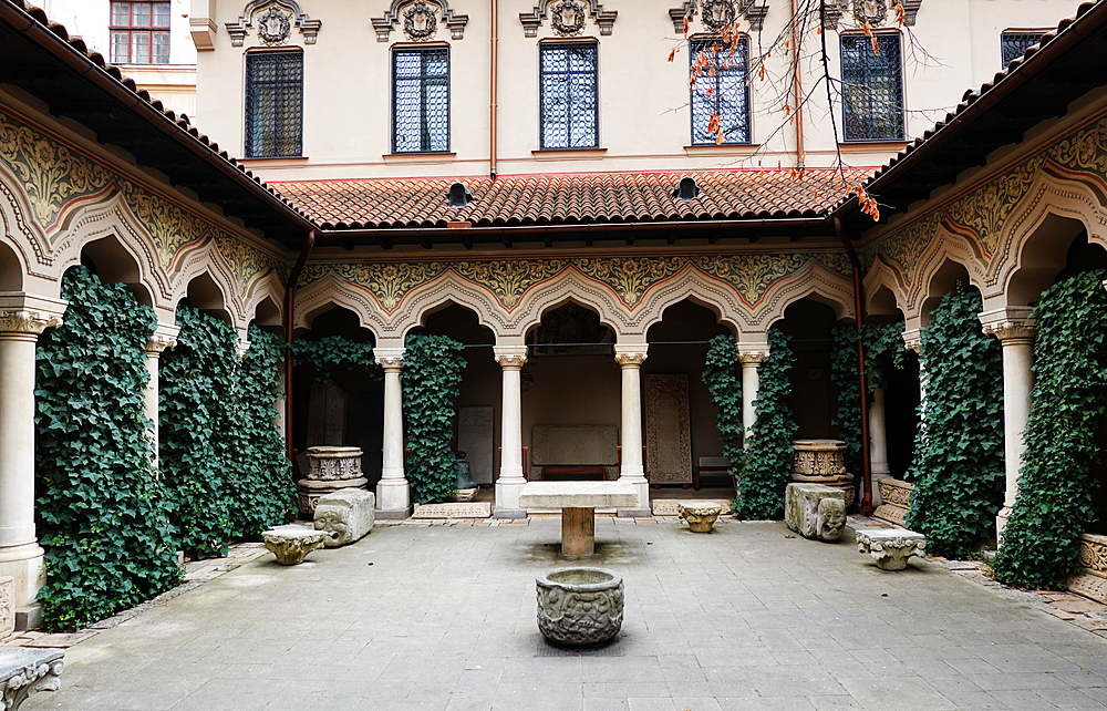
<svg viewBox="0 0 1107 711">
<path fill-rule="evenodd" d="M 540 44 L 539 53 L 541 147 L 599 147 L 599 48 L 594 42 Z"/>
</svg>

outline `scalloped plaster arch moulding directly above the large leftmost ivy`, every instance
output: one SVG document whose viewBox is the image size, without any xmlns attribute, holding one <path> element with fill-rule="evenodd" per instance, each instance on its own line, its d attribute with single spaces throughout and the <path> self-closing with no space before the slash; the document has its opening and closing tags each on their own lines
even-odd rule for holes
<svg viewBox="0 0 1107 711">
<path fill-rule="evenodd" d="M 54 241 L 53 267 L 58 277 L 81 262 L 85 247 L 103 239 L 113 239 L 134 260 L 137 284 L 149 293 L 152 306 L 172 312 L 176 303 L 174 289 L 162 267 L 157 245 L 120 192 L 99 203 L 82 205 L 66 216 Z"/>
</svg>

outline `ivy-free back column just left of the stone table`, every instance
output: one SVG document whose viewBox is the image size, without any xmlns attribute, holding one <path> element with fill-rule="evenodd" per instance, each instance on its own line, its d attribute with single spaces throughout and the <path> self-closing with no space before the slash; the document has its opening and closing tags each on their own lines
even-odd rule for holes
<svg viewBox="0 0 1107 711">
<path fill-rule="evenodd" d="M 496 477 L 497 518 L 525 518 L 519 492 L 523 476 L 523 367 L 527 364 L 526 346 L 497 346 L 496 362 L 504 369 L 504 406 L 500 411 L 500 462 Z"/>
</svg>

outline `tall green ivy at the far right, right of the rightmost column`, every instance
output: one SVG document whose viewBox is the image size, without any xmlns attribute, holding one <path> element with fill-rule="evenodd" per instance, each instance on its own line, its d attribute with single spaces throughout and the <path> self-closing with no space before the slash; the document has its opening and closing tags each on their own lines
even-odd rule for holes
<svg viewBox="0 0 1107 711">
<path fill-rule="evenodd" d="M 1018 496 L 993 563 L 1001 583 L 1064 589 L 1096 518 L 1092 465 L 1107 414 L 1107 272 L 1054 285 L 1034 309 L 1034 404 Z"/>
</svg>

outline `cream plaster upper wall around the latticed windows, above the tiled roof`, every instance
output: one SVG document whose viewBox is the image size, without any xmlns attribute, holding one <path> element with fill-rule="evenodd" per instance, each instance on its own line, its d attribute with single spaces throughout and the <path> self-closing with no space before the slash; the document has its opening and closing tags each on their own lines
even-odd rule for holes
<svg viewBox="0 0 1107 711">
<path fill-rule="evenodd" d="M 241 0 L 205 0 L 198 8 L 215 10 L 213 51 L 199 52 L 197 111 L 200 128 L 231 153 L 242 153 L 244 55 L 259 42 L 248 35 L 244 47 L 231 47 L 227 22 L 238 20 Z M 786 82 L 754 82 L 751 147 L 686 150 L 690 143 L 687 52 L 666 62 L 677 43 L 669 9 L 676 0 L 608 0 L 607 11 L 618 11 L 612 33 L 602 37 L 588 20 L 581 38 L 600 44 L 601 152 L 535 154 L 538 148 L 538 44 L 557 39 L 548 18 L 537 38 L 524 34 L 519 13 L 534 0 L 499 3 L 499 172 L 500 174 L 689 169 L 720 166 L 788 167 L 795 162 L 795 127 L 777 101 Z M 391 50 L 406 43 L 401 27 L 387 42 L 377 42 L 371 19 L 389 2 L 375 0 L 303 0 L 300 8 L 322 21 L 318 42 L 304 48 L 304 158 L 259 161 L 251 164 L 266 179 L 313 179 L 375 176 L 466 176 L 488 172 L 489 9 L 487 2 L 455 0 L 451 8 L 468 16 L 464 39 L 451 40 L 439 23 L 435 41 L 451 48 L 451 150 L 448 156 L 391 156 Z M 1000 70 L 1000 32 L 1004 29 L 1047 29 L 1070 14 L 1073 0 L 925 0 L 913 40 L 904 37 L 904 87 L 908 134 L 919 135 L 934 120 L 956 105 L 969 87 L 990 81 Z M 194 8 L 194 13 L 197 9 Z M 789 6 L 770 3 L 761 41 L 772 42 L 787 28 Z M 196 18 L 194 18 L 196 20 Z M 742 18 L 744 27 L 748 27 Z M 853 22 L 847 11 L 839 31 Z M 699 19 L 693 32 L 703 29 Z M 896 31 L 896 30 L 889 30 Z M 839 75 L 838 35 L 825 33 L 830 73 Z M 752 37 L 756 45 L 758 38 Z M 821 37 L 811 32 L 801 64 L 804 90 L 813 91 L 805 111 L 805 146 L 810 166 L 827 165 L 835 156 L 834 131 L 820 75 Z M 290 45 L 303 47 L 292 30 Z M 912 49 L 912 44 L 915 45 Z M 929 58 L 925 54 L 929 53 Z M 787 58 L 774 55 L 769 74 L 783 73 Z M 793 102 L 794 103 L 794 102 Z M 840 130 L 840 106 L 834 115 Z M 899 145 L 847 145 L 850 165 L 875 166 L 887 161 Z"/>
</svg>

